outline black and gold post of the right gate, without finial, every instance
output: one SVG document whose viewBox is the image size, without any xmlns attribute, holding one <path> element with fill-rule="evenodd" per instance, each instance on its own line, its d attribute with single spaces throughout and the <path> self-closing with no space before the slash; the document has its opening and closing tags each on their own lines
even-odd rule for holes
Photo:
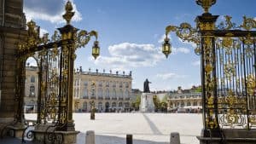
<svg viewBox="0 0 256 144">
<path fill-rule="evenodd" d="M 204 13 L 196 23 L 201 35 L 201 85 L 204 133 L 201 136 L 219 137 L 218 95 L 215 57 L 215 22 L 218 15 Z"/>
</svg>

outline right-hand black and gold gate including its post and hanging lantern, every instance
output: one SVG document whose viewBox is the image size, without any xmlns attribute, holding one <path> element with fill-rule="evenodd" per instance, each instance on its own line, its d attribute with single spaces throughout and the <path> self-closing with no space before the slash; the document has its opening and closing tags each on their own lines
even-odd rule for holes
<svg viewBox="0 0 256 144">
<path fill-rule="evenodd" d="M 256 21 L 243 17 L 240 26 L 230 16 L 215 25 L 218 15 L 208 12 L 216 0 L 197 0 L 205 13 L 197 16 L 196 28 L 188 23 L 166 26 L 162 52 L 171 53 L 169 32 L 196 43 L 201 55 L 201 86 L 204 136 L 221 136 L 221 128 L 253 129 L 256 126 Z"/>
</svg>

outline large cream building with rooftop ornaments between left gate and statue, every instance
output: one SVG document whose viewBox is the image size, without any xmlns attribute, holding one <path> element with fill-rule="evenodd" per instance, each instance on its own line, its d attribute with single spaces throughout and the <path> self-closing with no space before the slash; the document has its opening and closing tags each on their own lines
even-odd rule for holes
<svg viewBox="0 0 256 144">
<path fill-rule="evenodd" d="M 131 81 L 131 72 L 83 72 L 80 67 L 74 75 L 73 110 L 90 112 L 90 102 L 94 101 L 97 112 L 129 111 Z"/>
</svg>

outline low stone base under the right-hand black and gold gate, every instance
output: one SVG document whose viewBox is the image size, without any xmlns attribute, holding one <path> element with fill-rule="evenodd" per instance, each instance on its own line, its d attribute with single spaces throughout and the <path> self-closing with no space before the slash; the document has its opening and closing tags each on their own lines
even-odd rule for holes
<svg viewBox="0 0 256 144">
<path fill-rule="evenodd" d="M 256 143 L 256 130 L 221 130 L 221 135 L 219 137 L 214 136 L 196 136 L 200 141 L 200 144 L 255 144 Z"/>
</svg>

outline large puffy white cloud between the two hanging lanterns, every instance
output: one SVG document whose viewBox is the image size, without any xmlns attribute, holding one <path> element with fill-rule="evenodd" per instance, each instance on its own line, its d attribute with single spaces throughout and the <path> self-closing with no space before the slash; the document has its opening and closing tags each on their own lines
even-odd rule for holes
<svg viewBox="0 0 256 144">
<path fill-rule="evenodd" d="M 154 44 L 119 43 L 109 46 L 108 51 L 110 56 L 99 56 L 95 60 L 96 65 L 124 70 L 128 67 L 155 66 L 165 59 Z"/>
</svg>

